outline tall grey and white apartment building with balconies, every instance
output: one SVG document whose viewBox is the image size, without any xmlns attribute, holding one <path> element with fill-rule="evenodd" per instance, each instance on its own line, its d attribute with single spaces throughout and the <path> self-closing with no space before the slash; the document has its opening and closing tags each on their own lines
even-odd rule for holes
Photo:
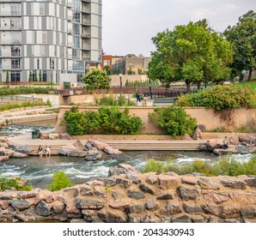
<svg viewBox="0 0 256 240">
<path fill-rule="evenodd" d="M 101 64 L 102 0 L 0 0 L 0 81 L 79 81 Z"/>
</svg>

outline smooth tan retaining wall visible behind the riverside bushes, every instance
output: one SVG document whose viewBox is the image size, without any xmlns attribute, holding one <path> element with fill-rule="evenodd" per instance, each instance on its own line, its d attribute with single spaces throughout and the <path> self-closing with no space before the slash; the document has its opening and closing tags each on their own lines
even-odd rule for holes
<svg viewBox="0 0 256 240">
<path fill-rule="evenodd" d="M 62 105 L 58 114 L 58 121 L 56 124 L 56 132 L 61 133 L 65 131 L 64 127 L 60 127 L 59 124 L 62 121 L 65 111 L 69 111 L 71 106 Z M 81 106 L 79 111 L 98 111 L 97 106 Z M 155 107 L 130 107 L 130 114 L 135 114 L 137 117 L 141 117 L 144 123 L 144 128 L 141 130 L 141 134 L 163 134 L 164 131 L 155 126 L 154 123 L 149 123 L 148 113 L 153 112 Z M 240 127 L 246 125 L 250 119 L 256 119 L 256 109 L 235 109 L 229 112 L 214 111 L 212 109 L 206 109 L 204 107 L 186 107 L 184 108 L 187 113 L 197 119 L 198 124 L 203 124 L 207 130 L 216 129 L 219 127 Z"/>
</svg>

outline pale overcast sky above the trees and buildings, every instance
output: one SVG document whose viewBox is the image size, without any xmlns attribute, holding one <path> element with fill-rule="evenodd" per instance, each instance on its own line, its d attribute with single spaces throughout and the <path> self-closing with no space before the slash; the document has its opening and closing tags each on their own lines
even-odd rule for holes
<svg viewBox="0 0 256 240">
<path fill-rule="evenodd" d="M 103 0 L 102 45 L 105 54 L 150 56 L 151 38 L 176 25 L 206 19 L 222 32 L 239 16 L 256 11 L 255 0 Z"/>
</svg>

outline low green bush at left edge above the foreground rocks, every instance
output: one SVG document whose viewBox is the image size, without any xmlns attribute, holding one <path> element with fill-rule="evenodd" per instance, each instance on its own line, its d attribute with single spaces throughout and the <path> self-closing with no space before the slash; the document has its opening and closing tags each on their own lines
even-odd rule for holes
<svg viewBox="0 0 256 240">
<path fill-rule="evenodd" d="M 22 191 L 30 191 L 32 186 L 27 184 L 21 184 L 21 177 L 16 178 L 0 178 L 0 191 L 4 191 L 6 189 L 15 189 L 15 190 L 22 190 Z"/>
</svg>

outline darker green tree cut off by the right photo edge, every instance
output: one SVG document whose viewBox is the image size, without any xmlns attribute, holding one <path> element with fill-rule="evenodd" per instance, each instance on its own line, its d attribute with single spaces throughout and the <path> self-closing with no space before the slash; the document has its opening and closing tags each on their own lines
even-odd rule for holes
<svg viewBox="0 0 256 240">
<path fill-rule="evenodd" d="M 231 42 L 235 51 L 232 67 L 234 76 L 241 75 L 241 70 L 249 71 L 248 80 L 256 69 L 256 13 L 253 10 L 239 17 L 233 27 L 228 27 L 224 35 Z"/>
</svg>

